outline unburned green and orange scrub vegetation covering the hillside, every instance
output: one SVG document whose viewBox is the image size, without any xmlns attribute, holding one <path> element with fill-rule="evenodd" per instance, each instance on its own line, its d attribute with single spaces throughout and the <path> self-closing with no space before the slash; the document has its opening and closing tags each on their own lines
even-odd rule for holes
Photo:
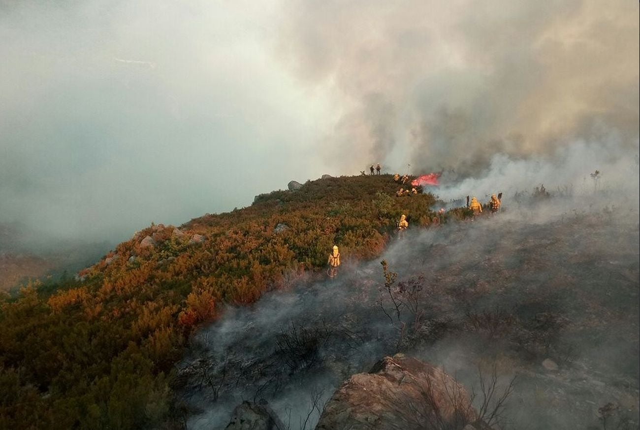
<svg viewBox="0 0 640 430">
<path fill-rule="evenodd" d="M 0 300 L 0 428 L 166 426 L 173 364 L 221 303 L 251 303 L 302 273 L 321 275 L 333 244 L 343 265 L 379 256 L 405 213 L 436 214 L 431 194 L 395 197 L 391 176 L 309 181 L 241 210 L 151 226 L 84 270 L 83 281 L 32 284 Z M 141 247 L 147 234 L 156 247 Z M 202 234 L 203 243 L 191 243 Z"/>
</svg>

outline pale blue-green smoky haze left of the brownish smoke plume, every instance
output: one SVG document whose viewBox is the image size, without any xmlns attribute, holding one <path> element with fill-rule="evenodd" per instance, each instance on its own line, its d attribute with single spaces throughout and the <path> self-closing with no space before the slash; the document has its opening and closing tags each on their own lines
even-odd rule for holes
<svg viewBox="0 0 640 430">
<path fill-rule="evenodd" d="M 0 222 L 118 242 L 336 174 L 275 6 L 0 1 Z"/>
</svg>

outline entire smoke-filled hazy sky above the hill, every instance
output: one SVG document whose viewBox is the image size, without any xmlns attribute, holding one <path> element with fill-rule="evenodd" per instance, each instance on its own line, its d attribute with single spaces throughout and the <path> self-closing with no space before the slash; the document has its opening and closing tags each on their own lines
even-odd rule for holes
<svg viewBox="0 0 640 430">
<path fill-rule="evenodd" d="M 633 155 L 638 27 L 628 1 L 0 0 L 0 222 L 119 241 L 371 162 Z"/>
</svg>

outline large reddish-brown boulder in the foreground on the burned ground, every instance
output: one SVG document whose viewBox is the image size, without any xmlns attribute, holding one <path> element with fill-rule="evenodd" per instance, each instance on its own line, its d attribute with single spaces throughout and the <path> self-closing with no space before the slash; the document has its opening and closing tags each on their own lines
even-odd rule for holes
<svg viewBox="0 0 640 430">
<path fill-rule="evenodd" d="M 402 354 L 351 376 L 324 407 L 316 430 L 481 429 L 467 390 L 442 369 Z"/>
</svg>

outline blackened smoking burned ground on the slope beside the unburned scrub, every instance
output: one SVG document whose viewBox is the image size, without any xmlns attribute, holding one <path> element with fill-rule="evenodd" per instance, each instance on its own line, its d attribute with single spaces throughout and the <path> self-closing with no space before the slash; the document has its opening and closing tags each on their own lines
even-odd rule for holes
<svg viewBox="0 0 640 430">
<path fill-rule="evenodd" d="M 478 367 L 515 375 L 512 428 L 602 428 L 602 415 L 637 428 L 637 210 L 557 204 L 413 228 L 335 280 L 228 309 L 180 364 L 188 427 L 224 428 L 243 399 L 266 399 L 291 429 L 313 428 L 312 399 L 401 351 L 467 387 Z M 388 289 L 381 259 L 398 275 Z"/>
</svg>

